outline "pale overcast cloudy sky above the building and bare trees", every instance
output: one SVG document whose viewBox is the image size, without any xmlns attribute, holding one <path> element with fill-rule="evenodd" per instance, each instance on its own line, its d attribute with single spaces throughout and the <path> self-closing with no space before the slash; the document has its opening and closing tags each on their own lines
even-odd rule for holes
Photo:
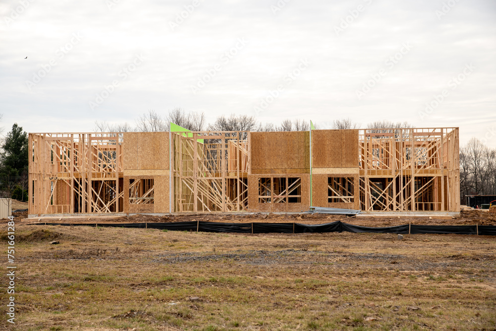
<svg viewBox="0 0 496 331">
<path fill-rule="evenodd" d="M 0 17 L 4 132 L 182 107 L 460 127 L 496 147 L 494 0 L 3 0 Z"/>
</svg>

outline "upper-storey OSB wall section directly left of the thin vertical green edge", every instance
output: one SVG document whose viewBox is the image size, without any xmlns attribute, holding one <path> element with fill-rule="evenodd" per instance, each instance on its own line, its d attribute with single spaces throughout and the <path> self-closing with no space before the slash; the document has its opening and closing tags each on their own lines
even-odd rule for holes
<svg viewBox="0 0 496 331">
<path fill-rule="evenodd" d="M 310 168 L 310 132 L 251 132 L 251 169 Z"/>
</svg>

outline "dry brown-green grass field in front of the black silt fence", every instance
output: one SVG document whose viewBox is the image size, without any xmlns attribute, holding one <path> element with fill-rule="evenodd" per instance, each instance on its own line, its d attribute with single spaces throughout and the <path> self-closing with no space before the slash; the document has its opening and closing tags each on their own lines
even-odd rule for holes
<svg viewBox="0 0 496 331">
<path fill-rule="evenodd" d="M 8 329 L 496 328 L 494 237 L 38 225 L 15 232 L 15 327 L 0 315 Z M 5 226 L 1 237 L 5 243 Z"/>
</svg>

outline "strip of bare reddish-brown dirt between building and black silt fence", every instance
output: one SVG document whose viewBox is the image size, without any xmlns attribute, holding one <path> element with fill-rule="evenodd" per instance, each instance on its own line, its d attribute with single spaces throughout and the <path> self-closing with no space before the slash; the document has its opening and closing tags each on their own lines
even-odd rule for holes
<svg viewBox="0 0 496 331">
<path fill-rule="evenodd" d="M 169 215 L 169 216 L 152 216 L 152 215 L 132 215 L 122 217 L 42 217 L 27 219 L 27 211 L 14 213 L 18 224 L 32 223 L 143 223 L 143 222 L 180 222 L 180 221 L 209 221 L 225 223 L 302 223 L 302 224 L 323 224 L 340 220 L 345 223 L 383 227 L 403 224 L 418 225 L 496 225 L 496 213 L 489 213 L 486 210 L 468 210 L 462 211 L 460 217 L 448 219 L 436 219 L 429 217 L 347 217 L 346 215 L 327 215 L 327 214 L 186 214 L 186 215 Z M 5 222 L 5 220 L 3 220 Z"/>
</svg>

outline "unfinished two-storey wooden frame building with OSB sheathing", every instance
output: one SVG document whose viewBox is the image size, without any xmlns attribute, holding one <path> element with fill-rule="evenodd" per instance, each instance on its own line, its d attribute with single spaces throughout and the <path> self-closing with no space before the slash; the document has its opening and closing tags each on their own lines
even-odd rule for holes
<svg viewBox="0 0 496 331">
<path fill-rule="evenodd" d="M 29 215 L 459 212 L 458 128 L 30 133 Z"/>
</svg>

